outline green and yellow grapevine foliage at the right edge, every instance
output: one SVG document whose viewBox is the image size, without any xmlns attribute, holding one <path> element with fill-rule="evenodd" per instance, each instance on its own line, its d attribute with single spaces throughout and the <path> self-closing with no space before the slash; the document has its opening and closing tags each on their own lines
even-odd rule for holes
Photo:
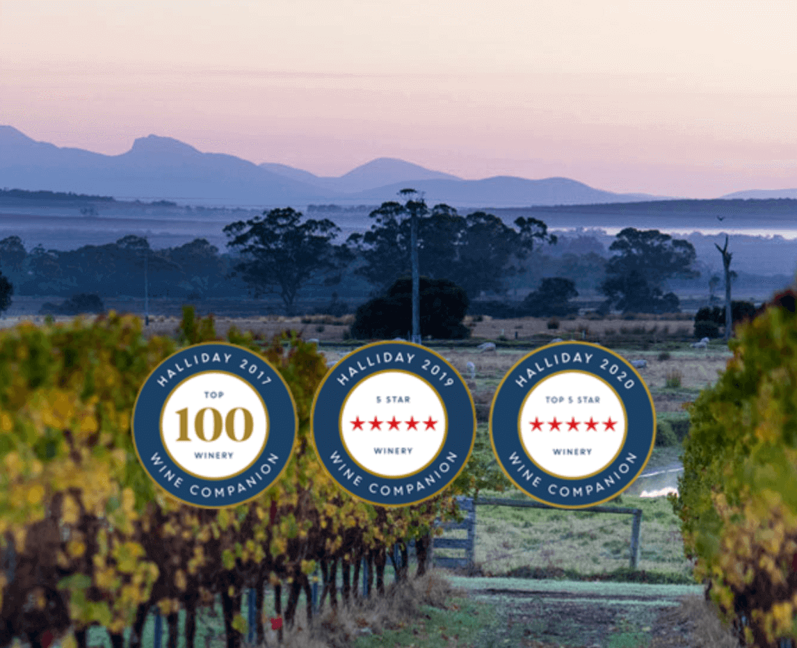
<svg viewBox="0 0 797 648">
<path fill-rule="evenodd" d="M 793 308 L 793 302 L 792 302 Z M 748 646 L 792 637 L 797 574 L 797 317 L 767 308 L 690 407 L 677 497 L 686 556 Z M 736 619 L 734 619 L 736 617 Z"/>
</svg>

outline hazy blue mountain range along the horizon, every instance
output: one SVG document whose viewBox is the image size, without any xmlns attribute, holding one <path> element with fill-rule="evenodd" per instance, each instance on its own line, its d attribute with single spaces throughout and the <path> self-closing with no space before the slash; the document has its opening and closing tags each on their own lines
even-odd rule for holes
<svg viewBox="0 0 797 648">
<path fill-rule="evenodd" d="M 582 205 L 672 199 L 650 194 L 616 194 L 567 178 L 532 180 L 495 176 L 465 180 L 393 158 L 374 159 L 338 178 L 321 177 L 285 164 L 258 165 L 234 155 L 202 153 L 178 139 L 158 135 L 135 139 L 130 151 L 121 155 L 103 155 L 37 142 L 16 128 L 2 125 L 0 187 L 110 195 L 117 199 L 166 199 L 189 205 L 258 208 L 314 203 L 378 205 L 397 199 L 398 190 L 406 187 L 423 192 L 429 205 L 446 202 L 455 207 Z M 797 198 L 797 189 L 752 190 L 727 196 L 779 197 Z"/>
</svg>

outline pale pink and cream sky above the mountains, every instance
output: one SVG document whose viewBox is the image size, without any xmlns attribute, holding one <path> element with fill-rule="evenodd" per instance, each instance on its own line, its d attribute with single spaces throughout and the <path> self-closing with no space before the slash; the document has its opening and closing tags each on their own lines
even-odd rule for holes
<svg viewBox="0 0 797 648">
<path fill-rule="evenodd" d="M 797 2 L 0 0 L 0 124 L 343 175 L 797 187 Z"/>
</svg>

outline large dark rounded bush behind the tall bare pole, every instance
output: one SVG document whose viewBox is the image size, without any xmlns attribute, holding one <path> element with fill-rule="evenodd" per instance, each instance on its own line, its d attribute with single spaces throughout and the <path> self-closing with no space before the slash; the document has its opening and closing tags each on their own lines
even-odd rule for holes
<svg viewBox="0 0 797 648">
<path fill-rule="evenodd" d="M 465 290 L 448 279 L 420 278 L 421 335 L 438 340 L 461 340 L 470 335 L 462 324 L 468 309 Z M 412 281 L 398 279 L 383 297 L 357 308 L 351 337 L 355 340 L 391 340 L 412 329 Z"/>
</svg>

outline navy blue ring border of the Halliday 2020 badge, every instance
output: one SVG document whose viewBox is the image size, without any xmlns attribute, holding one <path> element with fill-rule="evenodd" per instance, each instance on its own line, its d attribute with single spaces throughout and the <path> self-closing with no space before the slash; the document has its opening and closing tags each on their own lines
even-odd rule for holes
<svg viewBox="0 0 797 648">
<path fill-rule="evenodd" d="M 589 363 L 556 364 L 552 354 L 561 354 L 562 352 L 569 353 L 571 358 L 575 356 L 576 352 L 579 352 L 582 358 L 585 353 L 591 354 L 592 357 Z M 548 363 L 545 362 L 546 359 L 548 359 Z M 608 360 L 607 369 L 601 370 L 600 367 L 604 359 Z M 618 365 L 622 371 L 626 371 L 625 380 L 634 380 L 633 387 L 626 390 L 623 387 L 625 380 L 623 383 L 618 382 L 619 370 L 616 375 L 609 373 L 608 369 L 614 364 Z M 539 371 L 539 367 L 543 367 L 543 371 Z M 531 369 L 536 375 L 529 377 L 527 369 Z M 554 477 L 541 469 L 524 450 L 523 444 L 520 442 L 520 430 L 517 428 L 520 408 L 523 406 L 528 392 L 540 380 L 567 370 L 585 371 L 605 379 L 617 391 L 626 407 L 628 417 L 626 442 L 617 457 L 600 473 L 583 479 Z M 521 377 L 525 382 L 519 385 L 516 381 Z M 650 459 L 650 454 L 653 453 L 656 441 L 656 411 L 653 396 L 650 395 L 650 390 L 642 380 L 642 376 L 626 359 L 599 344 L 575 341 L 556 342 L 525 355 L 512 366 L 501 380 L 490 407 L 489 435 L 501 470 L 509 481 L 512 481 L 512 484 L 526 493 L 528 497 L 557 509 L 584 509 L 603 504 L 603 502 L 616 497 L 633 484 L 634 480 L 642 473 L 642 469 Z M 512 454 L 520 458 L 520 461 L 511 461 Z M 629 454 L 635 456 L 635 459 L 632 460 L 633 463 L 628 461 Z M 628 468 L 626 473 L 622 473 L 620 470 L 622 464 Z M 522 469 L 521 466 L 523 466 Z M 528 477 L 528 473 L 532 473 L 532 477 Z M 536 477 L 539 477 L 539 480 L 536 480 Z M 607 485 L 607 482 L 604 481 L 606 477 L 614 479 L 615 485 Z M 534 485 L 535 480 L 537 485 Z M 603 491 L 595 489 L 596 483 L 603 486 Z M 549 491 L 552 485 L 556 485 L 555 493 Z M 571 494 L 573 489 L 580 488 L 584 493 L 587 485 L 592 487 L 591 495 L 583 495 L 579 497 L 579 504 L 573 504 L 575 497 Z M 560 486 L 567 487 L 567 496 L 559 494 Z"/>
</svg>

